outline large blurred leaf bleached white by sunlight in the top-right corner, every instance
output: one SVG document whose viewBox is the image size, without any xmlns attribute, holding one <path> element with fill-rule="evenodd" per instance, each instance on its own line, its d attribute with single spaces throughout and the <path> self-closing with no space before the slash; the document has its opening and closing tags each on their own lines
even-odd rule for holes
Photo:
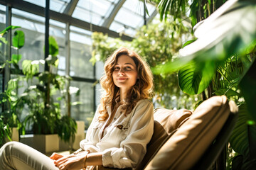
<svg viewBox="0 0 256 170">
<path fill-rule="evenodd" d="M 195 42 L 180 50 L 181 56 L 200 61 L 226 60 L 256 38 L 256 1 L 227 1 L 203 23 L 195 26 Z"/>
</svg>

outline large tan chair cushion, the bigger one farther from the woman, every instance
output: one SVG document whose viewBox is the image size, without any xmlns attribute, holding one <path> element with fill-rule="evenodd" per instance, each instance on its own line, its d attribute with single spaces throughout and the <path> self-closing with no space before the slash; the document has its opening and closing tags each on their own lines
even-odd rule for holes
<svg viewBox="0 0 256 170">
<path fill-rule="evenodd" d="M 225 96 L 204 101 L 162 145 L 145 169 L 190 169 L 218 135 L 229 113 Z"/>
</svg>

